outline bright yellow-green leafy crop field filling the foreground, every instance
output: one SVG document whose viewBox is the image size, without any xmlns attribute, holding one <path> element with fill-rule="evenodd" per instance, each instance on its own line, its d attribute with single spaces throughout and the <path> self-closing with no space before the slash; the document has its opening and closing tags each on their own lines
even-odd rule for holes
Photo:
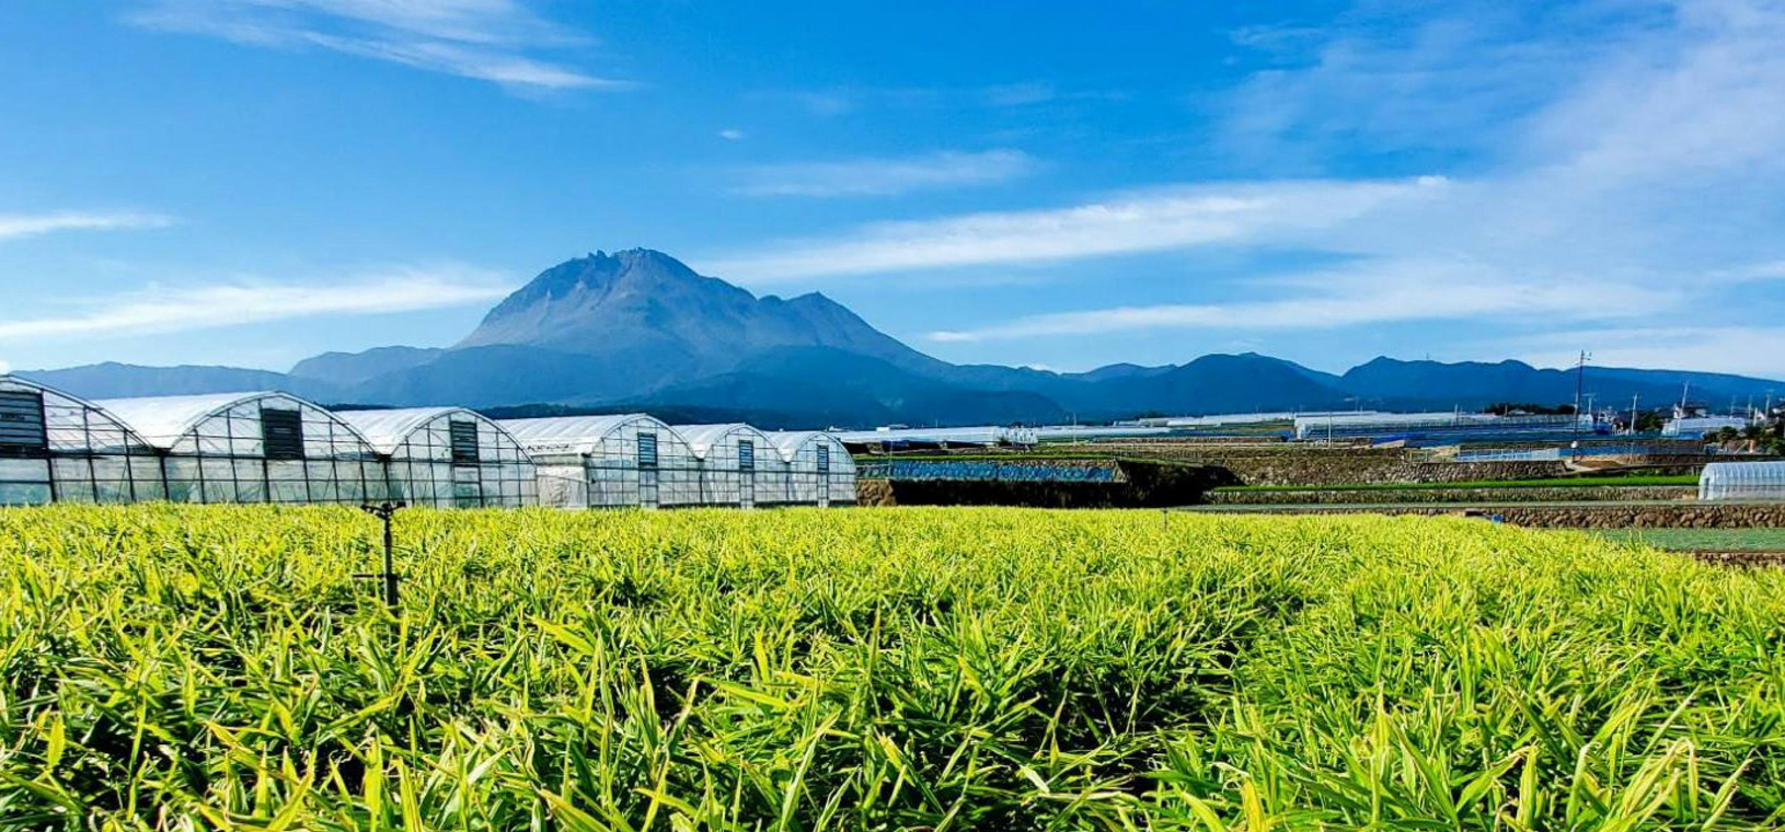
<svg viewBox="0 0 1785 832">
<path fill-rule="evenodd" d="M 1457 518 L 0 511 L 0 828 L 1780 828 L 1785 573 Z"/>
</svg>

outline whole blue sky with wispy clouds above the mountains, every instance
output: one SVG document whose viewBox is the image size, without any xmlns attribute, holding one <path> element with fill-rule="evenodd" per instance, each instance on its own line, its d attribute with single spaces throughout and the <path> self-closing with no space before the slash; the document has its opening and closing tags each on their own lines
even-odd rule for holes
<svg viewBox="0 0 1785 832">
<path fill-rule="evenodd" d="M 964 362 L 1785 379 L 1781 4 L 866 5 L 5 4 L 0 366 L 450 345 L 648 246 Z"/>
</svg>

